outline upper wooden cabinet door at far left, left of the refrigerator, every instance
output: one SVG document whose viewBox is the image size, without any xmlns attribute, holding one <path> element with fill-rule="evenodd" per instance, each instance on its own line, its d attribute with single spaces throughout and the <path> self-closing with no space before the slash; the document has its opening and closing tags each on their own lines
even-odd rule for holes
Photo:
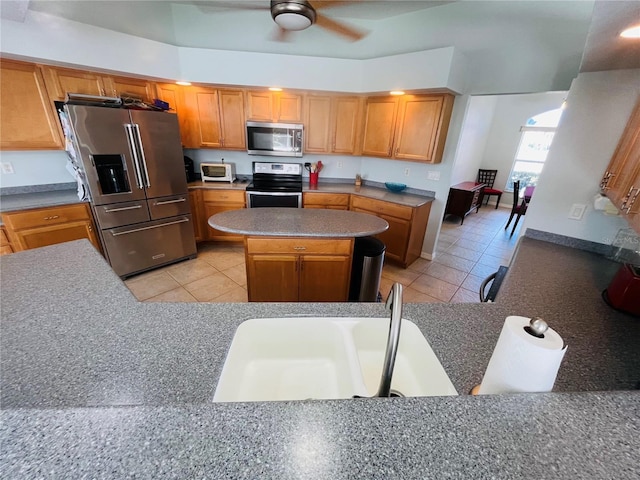
<svg viewBox="0 0 640 480">
<path fill-rule="evenodd" d="M 62 130 L 40 69 L 0 62 L 0 149 L 59 150 Z"/>
</svg>

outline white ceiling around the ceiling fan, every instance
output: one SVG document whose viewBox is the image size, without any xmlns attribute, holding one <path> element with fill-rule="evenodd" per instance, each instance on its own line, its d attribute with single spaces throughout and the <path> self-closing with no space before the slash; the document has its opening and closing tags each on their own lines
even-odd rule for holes
<svg viewBox="0 0 640 480">
<path fill-rule="evenodd" d="M 28 4 L 29 10 L 182 47 L 364 59 L 454 46 L 474 58 L 509 45 L 518 48 L 526 40 L 559 50 L 573 63 L 586 44 L 582 70 L 640 68 L 640 42 L 625 45 L 617 36 L 623 26 L 640 23 L 637 0 L 338 3 L 320 13 L 368 31 L 365 38 L 350 42 L 314 25 L 276 41 L 269 0 L 3 0 L 1 5 L 4 18 L 11 5 L 19 16 Z"/>
</svg>

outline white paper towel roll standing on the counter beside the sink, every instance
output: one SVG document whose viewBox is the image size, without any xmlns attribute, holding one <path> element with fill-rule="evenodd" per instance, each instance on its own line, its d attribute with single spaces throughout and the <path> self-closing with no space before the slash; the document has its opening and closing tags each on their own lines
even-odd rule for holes
<svg viewBox="0 0 640 480">
<path fill-rule="evenodd" d="M 479 394 L 551 391 L 567 347 L 551 328 L 544 338 L 527 333 L 529 320 L 506 318 Z"/>
</svg>

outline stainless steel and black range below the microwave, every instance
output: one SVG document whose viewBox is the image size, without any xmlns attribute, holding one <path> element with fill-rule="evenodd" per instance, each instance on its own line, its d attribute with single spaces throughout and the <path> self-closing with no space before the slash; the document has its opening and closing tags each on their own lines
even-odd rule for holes
<svg viewBox="0 0 640 480">
<path fill-rule="evenodd" d="M 253 162 L 247 208 L 302 207 L 302 164 Z"/>
</svg>

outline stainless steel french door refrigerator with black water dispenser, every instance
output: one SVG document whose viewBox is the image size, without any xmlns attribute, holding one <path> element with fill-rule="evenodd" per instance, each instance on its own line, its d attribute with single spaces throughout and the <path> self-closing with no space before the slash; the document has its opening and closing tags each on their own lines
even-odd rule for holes
<svg viewBox="0 0 640 480">
<path fill-rule="evenodd" d="M 67 150 L 84 177 L 113 270 L 126 278 L 194 258 L 176 115 L 71 104 L 64 112 Z"/>
</svg>

